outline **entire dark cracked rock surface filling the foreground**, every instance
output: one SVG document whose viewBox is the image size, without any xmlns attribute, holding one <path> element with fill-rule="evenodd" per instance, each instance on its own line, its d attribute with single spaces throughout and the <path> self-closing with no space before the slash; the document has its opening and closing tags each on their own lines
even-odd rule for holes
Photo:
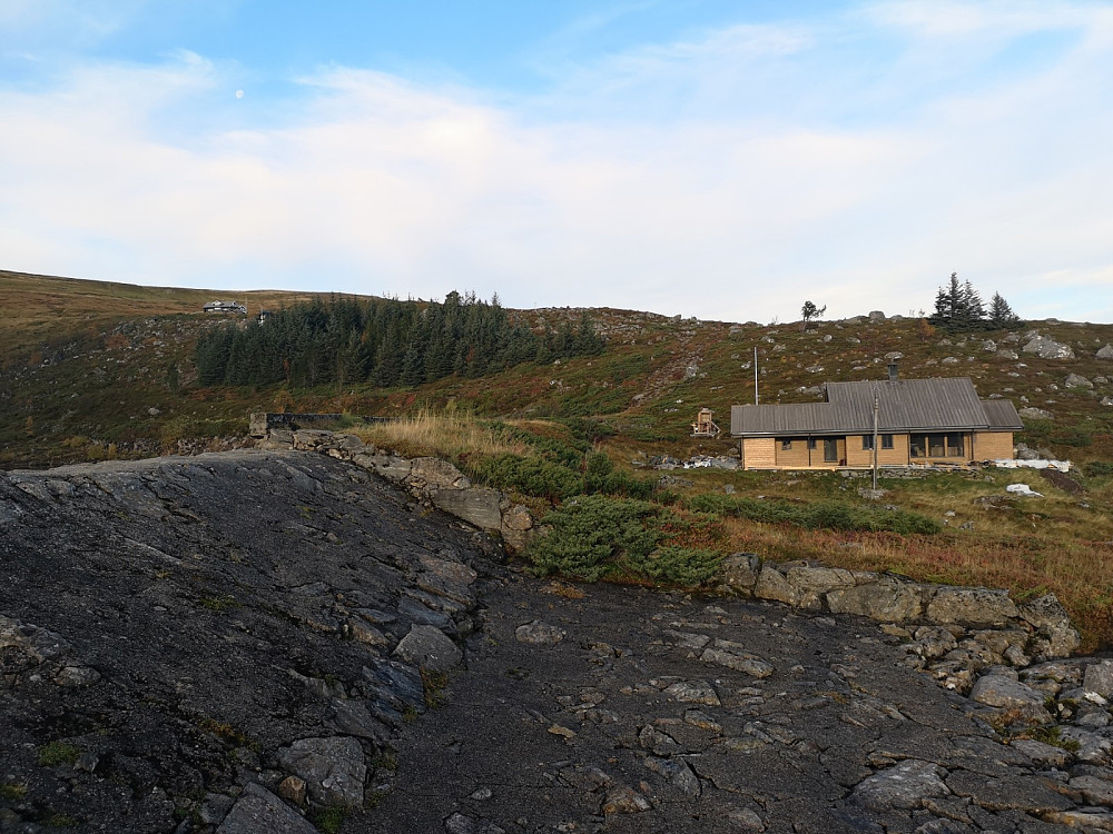
<svg viewBox="0 0 1113 834">
<path fill-rule="evenodd" d="M 1113 662 L 490 542 L 319 454 L 0 473 L 0 831 L 1113 831 Z"/>
</svg>

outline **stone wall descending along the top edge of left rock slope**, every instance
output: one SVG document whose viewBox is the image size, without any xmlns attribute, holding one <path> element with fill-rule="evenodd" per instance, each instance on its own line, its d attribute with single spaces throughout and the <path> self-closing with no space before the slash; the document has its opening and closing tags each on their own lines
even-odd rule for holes
<svg viewBox="0 0 1113 834">
<path fill-rule="evenodd" d="M 263 417 L 252 415 L 263 425 Z M 305 415 L 293 415 L 304 417 Z M 498 489 L 476 486 L 460 469 L 434 457 L 404 458 L 365 444 L 355 435 L 319 428 L 266 427 L 257 445 L 264 449 L 319 451 L 348 460 L 405 488 L 426 506 L 436 507 L 487 533 L 502 536 L 511 553 L 522 550 L 533 536 L 533 516 Z"/>
</svg>

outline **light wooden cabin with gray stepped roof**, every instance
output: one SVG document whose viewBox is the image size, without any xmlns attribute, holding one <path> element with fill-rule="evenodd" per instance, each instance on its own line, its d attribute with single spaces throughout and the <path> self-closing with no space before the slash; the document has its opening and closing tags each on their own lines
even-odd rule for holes
<svg viewBox="0 0 1113 834">
<path fill-rule="evenodd" d="M 978 399 L 967 377 L 828 383 L 824 403 L 733 406 L 745 469 L 967 465 L 1013 457 L 1022 429 L 1006 399 Z"/>
</svg>

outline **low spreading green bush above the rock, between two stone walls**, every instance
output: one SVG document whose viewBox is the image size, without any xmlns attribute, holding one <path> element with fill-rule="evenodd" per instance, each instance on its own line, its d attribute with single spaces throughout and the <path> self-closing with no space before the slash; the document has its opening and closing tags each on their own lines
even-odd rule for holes
<svg viewBox="0 0 1113 834">
<path fill-rule="evenodd" d="M 621 570 L 621 562 L 640 564 L 657 546 L 660 532 L 647 526 L 660 508 L 649 502 L 589 495 L 545 516 L 550 528 L 528 552 L 542 576 L 595 582 Z"/>
</svg>

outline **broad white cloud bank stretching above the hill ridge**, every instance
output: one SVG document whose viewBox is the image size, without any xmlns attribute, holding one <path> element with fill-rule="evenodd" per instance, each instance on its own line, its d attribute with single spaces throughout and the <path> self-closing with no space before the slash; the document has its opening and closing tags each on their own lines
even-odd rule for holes
<svg viewBox="0 0 1113 834">
<path fill-rule="evenodd" d="M 1065 19 L 954 4 L 927 26 L 926 8 L 646 48 L 531 101 L 329 68 L 235 102 L 228 72 L 188 52 L 0 90 L 4 267 L 739 320 L 806 298 L 908 312 L 958 270 L 1022 315 L 1110 320 L 1061 309 L 1111 277 L 1109 16 L 1060 7 L 1078 38 L 1040 66 L 973 89 L 944 72 L 900 102 L 946 27 Z M 855 87 L 880 59 L 846 66 L 846 44 L 897 26 L 893 77 Z"/>
</svg>

